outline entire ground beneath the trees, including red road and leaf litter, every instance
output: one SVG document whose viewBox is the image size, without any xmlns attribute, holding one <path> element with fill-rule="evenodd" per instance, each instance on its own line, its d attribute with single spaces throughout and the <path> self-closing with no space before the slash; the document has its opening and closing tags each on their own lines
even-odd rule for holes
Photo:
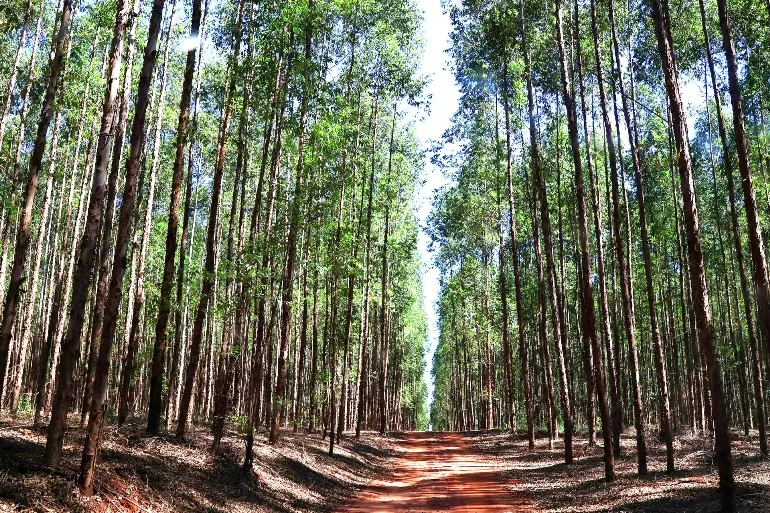
<svg viewBox="0 0 770 513">
<path fill-rule="evenodd" d="M 74 419 L 73 419 L 74 420 Z M 623 438 L 617 479 L 603 479 L 601 447 L 575 437 L 575 463 L 564 465 L 538 438 L 472 433 L 363 434 L 345 437 L 335 456 L 320 436 L 283 432 L 271 447 L 258 437 L 255 466 L 244 474 L 243 437 L 230 433 L 220 454 L 207 429 L 185 443 L 149 436 L 143 425 L 104 433 L 97 496 L 75 492 L 83 431 L 71 429 L 59 469 L 42 465 L 45 431 L 28 419 L 0 418 L 0 512 L 307 512 L 439 511 L 502 513 L 716 512 L 717 474 L 706 438 L 678 436 L 677 471 L 666 475 L 665 448 L 648 438 L 649 475 L 636 475 L 632 433 Z M 754 437 L 733 442 L 739 512 L 770 511 L 770 462 Z M 347 506 L 345 506 L 347 505 Z"/>
</svg>

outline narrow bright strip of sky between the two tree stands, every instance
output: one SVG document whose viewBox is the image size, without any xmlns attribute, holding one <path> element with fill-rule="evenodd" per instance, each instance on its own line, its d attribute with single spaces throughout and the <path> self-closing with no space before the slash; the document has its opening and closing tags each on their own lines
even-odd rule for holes
<svg viewBox="0 0 770 513">
<path fill-rule="evenodd" d="M 450 118 L 454 114 L 460 97 L 459 89 L 455 83 L 454 75 L 449 71 L 449 56 L 445 50 L 449 48 L 449 32 L 452 24 L 449 16 L 441 9 L 440 0 L 420 0 L 423 10 L 425 51 L 423 54 L 421 73 L 428 75 L 430 82 L 425 94 L 431 96 L 430 113 L 417 114 L 416 131 L 422 142 L 423 148 L 428 149 L 431 141 L 441 137 L 444 130 L 449 128 Z M 425 183 L 419 192 L 419 209 L 417 212 L 420 225 L 425 226 L 430 214 L 434 192 L 445 185 L 448 180 L 441 171 L 430 163 L 430 155 L 427 155 L 426 167 L 423 172 Z M 428 251 L 429 239 L 424 230 L 420 231 L 418 250 L 423 262 L 424 273 L 422 287 L 425 294 L 425 306 L 428 314 L 428 327 L 430 333 L 430 350 L 425 355 L 426 371 L 425 379 L 428 383 L 429 401 L 433 397 L 433 382 L 431 367 L 433 365 L 433 353 L 438 344 L 438 327 L 435 304 L 439 294 L 439 273 L 433 267 L 433 257 Z"/>
</svg>

